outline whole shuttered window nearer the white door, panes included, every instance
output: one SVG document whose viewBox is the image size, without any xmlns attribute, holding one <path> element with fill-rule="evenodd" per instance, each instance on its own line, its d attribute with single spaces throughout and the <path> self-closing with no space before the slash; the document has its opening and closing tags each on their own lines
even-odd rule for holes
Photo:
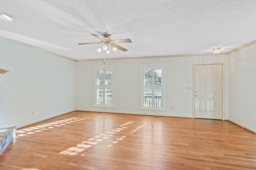
<svg viewBox="0 0 256 170">
<path fill-rule="evenodd" d="M 141 65 L 141 109 L 165 110 L 165 64 Z"/>
</svg>

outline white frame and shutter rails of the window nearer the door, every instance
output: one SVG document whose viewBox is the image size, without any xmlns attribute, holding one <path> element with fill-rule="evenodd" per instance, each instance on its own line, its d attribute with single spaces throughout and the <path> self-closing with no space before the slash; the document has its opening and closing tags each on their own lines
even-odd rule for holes
<svg viewBox="0 0 256 170">
<path fill-rule="evenodd" d="M 151 86 L 144 86 L 144 68 L 162 68 L 162 78 L 161 78 L 161 86 L 154 85 L 154 76 L 152 76 L 152 85 Z M 162 90 L 162 106 L 161 107 L 154 107 L 152 106 L 144 106 L 144 89 L 151 89 L 152 93 L 154 90 L 161 89 Z M 165 64 L 141 64 L 141 97 L 140 97 L 140 109 L 148 109 L 148 110 L 166 110 L 165 108 Z M 152 101 L 154 101 L 154 95 L 152 95 Z"/>
</svg>

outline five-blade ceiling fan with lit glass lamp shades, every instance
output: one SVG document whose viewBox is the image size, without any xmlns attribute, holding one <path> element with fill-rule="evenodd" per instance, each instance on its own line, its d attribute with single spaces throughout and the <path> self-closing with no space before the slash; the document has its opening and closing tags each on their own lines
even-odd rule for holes
<svg viewBox="0 0 256 170">
<path fill-rule="evenodd" d="M 106 50 L 106 54 L 110 54 L 110 51 L 108 47 L 111 47 L 111 49 L 116 52 L 116 49 L 119 49 L 121 51 L 127 51 L 124 47 L 121 47 L 119 45 L 116 45 L 116 43 L 132 43 L 130 39 L 116 39 L 112 40 L 110 38 L 109 34 L 104 34 L 104 37 L 100 37 L 100 35 L 97 34 L 92 34 L 94 37 L 98 38 L 101 40 L 101 42 L 96 42 L 96 43 L 78 43 L 78 45 L 86 45 L 86 44 L 103 44 L 100 48 L 97 49 L 97 51 L 100 53 L 100 51 Z"/>
</svg>

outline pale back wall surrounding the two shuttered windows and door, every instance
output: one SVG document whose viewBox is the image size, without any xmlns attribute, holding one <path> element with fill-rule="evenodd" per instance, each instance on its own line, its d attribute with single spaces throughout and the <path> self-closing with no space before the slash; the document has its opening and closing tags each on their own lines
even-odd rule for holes
<svg viewBox="0 0 256 170">
<path fill-rule="evenodd" d="M 76 66 L 76 109 L 192 117 L 193 63 L 227 63 L 228 55 L 171 57 L 157 59 L 106 60 L 115 66 L 115 108 L 94 107 L 94 66 L 102 61 L 78 61 Z M 140 109 L 140 64 L 166 64 L 166 111 Z M 228 119 L 228 65 L 226 64 L 226 108 Z M 89 106 L 90 103 L 90 106 Z M 174 109 L 171 110 L 171 107 Z"/>
</svg>

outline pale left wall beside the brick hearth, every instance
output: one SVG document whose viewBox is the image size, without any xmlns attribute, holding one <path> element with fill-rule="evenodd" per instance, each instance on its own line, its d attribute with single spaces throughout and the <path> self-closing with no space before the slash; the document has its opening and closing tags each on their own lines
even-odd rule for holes
<svg viewBox="0 0 256 170">
<path fill-rule="evenodd" d="M 0 128 L 75 110 L 76 62 L 0 38 Z M 34 111 L 34 115 L 32 115 Z"/>
</svg>

